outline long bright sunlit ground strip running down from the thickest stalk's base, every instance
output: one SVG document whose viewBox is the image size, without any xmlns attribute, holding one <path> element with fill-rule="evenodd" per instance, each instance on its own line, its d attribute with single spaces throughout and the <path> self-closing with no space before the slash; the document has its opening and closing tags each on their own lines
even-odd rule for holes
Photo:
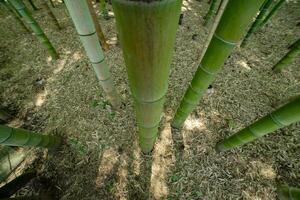
<svg viewBox="0 0 300 200">
<path fill-rule="evenodd" d="M 171 126 L 170 123 L 166 123 L 153 152 L 150 193 L 154 199 L 167 197 L 169 193 L 167 186 L 168 173 L 174 163 L 175 154 Z"/>
</svg>

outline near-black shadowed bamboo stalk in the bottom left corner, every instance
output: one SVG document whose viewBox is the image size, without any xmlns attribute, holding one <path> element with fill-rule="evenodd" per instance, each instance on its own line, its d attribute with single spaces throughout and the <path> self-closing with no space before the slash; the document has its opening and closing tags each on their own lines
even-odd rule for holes
<svg viewBox="0 0 300 200">
<path fill-rule="evenodd" d="M 18 176 L 14 180 L 10 181 L 9 183 L 5 184 L 0 188 L 1 199 L 9 198 L 35 177 L 36 177 L 36 171 L 28 171 Z"/>
</svg>

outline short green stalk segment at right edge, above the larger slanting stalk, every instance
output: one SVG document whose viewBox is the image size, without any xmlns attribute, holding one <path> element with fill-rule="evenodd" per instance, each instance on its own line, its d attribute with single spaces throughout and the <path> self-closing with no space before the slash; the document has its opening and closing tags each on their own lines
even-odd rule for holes
<svg viewBox="0 0 300 200">
<path fill-rule="evenodd" d="M 280 72 L 288 64 L 290 64 L 296 57 L 300 55 L 300 39 L 291 45 L 291 49 L 280 61 L 272 68 L 275 72 Z"/>
</svg>

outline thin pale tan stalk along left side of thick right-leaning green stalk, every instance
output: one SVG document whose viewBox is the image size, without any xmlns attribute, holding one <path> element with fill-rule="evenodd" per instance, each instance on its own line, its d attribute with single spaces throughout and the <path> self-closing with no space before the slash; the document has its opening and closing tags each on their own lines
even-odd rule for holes
<svg viewBox="0 0 300 200">
<path fill-rule="evenodd" d="M 203 50 L 202 50 L 202 53 L 201 53 L 201 56 L 200 56 L 200 59 L 199 59 L 200 61 L 202 60 L 202 58 L 203 58 L 203 56 L 204 56 L 204 54 L 205 54 L 205 52 L 206 52 L 206 50 L 208 48 L 208 45 L 209 45 L 211 39 L 214 36 L 214 33 L 216 31 L 216 28 L 217 28 L 217 26 L 219 24 L 219 21 L 220 21 L 222 15 L 223 15 L 223 12 L 224 12 L 224 10 L 226 8 L 227 3 L 228 3 L 228 0 L 222 0 L 221 1 L 220 7 L 219 7 L 218 12 L 217 12 L 217 16 L 215 18 L 215 21 L 214 21 L 214 23 L 213 23 L 213 25 L 212 25 L 212 27 L 210 29 L 210 32 L 209 32 L 209 34 L 208 34 L 208 36 L 206 38 L 205 44 L 204 44 L 204 46 L 202 48 Z"/>
</svg>

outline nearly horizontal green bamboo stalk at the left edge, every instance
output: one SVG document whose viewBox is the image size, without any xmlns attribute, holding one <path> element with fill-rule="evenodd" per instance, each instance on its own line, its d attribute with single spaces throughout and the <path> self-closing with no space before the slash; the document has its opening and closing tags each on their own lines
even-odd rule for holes
<svg viewBox="0 0 300 200">
<path fill-rule="evenodd" d="M 0 145 L 53 149 L 58 147 L 60 143 L 61 139 L 56 136 L 42 135 L 24 129 L 0 125 Z"/>
</svg>

